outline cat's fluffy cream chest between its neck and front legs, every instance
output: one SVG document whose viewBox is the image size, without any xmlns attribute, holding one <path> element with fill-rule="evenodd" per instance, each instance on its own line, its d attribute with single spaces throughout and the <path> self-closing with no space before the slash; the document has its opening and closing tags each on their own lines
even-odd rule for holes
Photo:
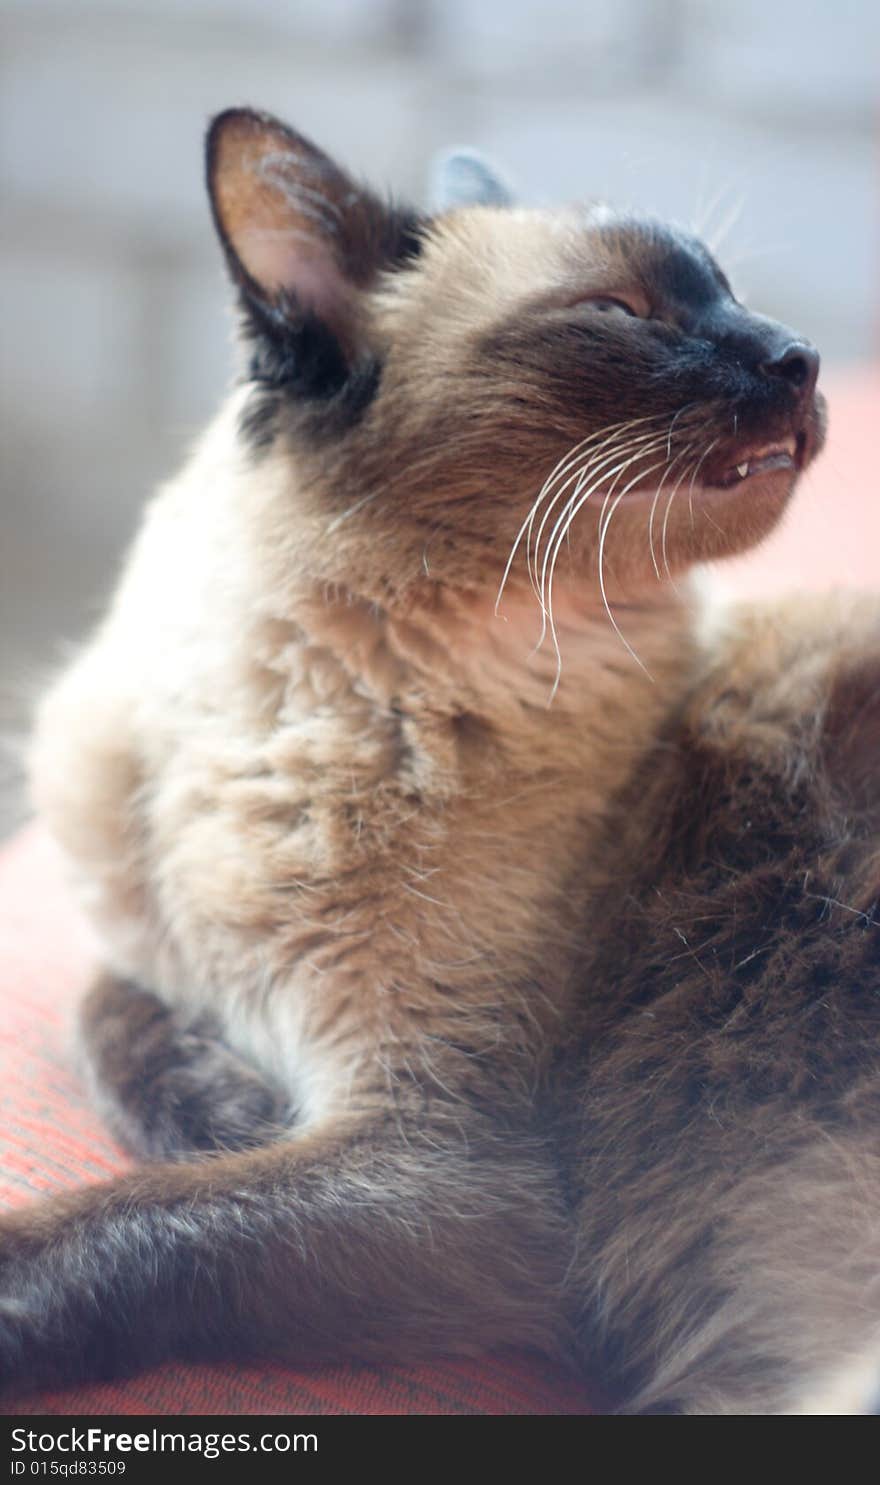
<svg viewBox="0 0 880 1485">
<path fill-rule="evenodd" d="M 537 1042 L 565 993 L 629 688 L 574 667 L 551 707 L 552 655 L 456 621 L 224 631 L 138 738 L 145 910 L 132 934 L 107 878 L 114 958 L 313 1109 L 429 1044 L 482 1056 L 506 1017 Z"/>
</svg>

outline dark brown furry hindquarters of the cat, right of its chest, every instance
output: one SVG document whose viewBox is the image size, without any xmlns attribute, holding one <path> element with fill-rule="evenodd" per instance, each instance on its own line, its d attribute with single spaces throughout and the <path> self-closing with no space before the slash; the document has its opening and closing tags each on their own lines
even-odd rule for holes
<svg viewBox="0 0 880 1485">
<path fill-rule="evenodd" d="M 631 1408 L 835 1411 L 865 1356 L 880 1381 L 880 656 L 791 640 L 809 705 L 727 656 L 610 821 L 555 1111 L 580 1344 Z"/>
</svg>

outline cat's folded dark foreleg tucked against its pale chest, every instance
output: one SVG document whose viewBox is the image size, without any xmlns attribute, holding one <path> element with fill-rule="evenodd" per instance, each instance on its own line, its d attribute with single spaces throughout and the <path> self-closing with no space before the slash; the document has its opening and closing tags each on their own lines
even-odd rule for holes
<svg viewBox="0 0 880 1485">
<path fill-rule="evenodd" d="M 131 980 L 99 976 L 80 1031 L 95 1102 L 138 1155 L 240 1149 L 291 1124 L 280 1090 L 232 1051 L 206 1016 L 185 1022 Z"/>
</svg>

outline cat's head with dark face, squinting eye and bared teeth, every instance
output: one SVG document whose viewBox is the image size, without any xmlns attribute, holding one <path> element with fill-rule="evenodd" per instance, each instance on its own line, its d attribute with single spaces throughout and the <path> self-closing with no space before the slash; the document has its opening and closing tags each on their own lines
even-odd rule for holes
<svg viewBox="0 0 880 1485">
<path fill-rule="evenodd" d="M 650 218 L 512 206 L 473 165 L 418 215 L 301 135 L 208 135 L 248 345 L 240 438 L 289 466 L 301 557 L 393 598 L 427 581 L 656 584 L 754 544 L 824 437 L 819 358 Z M 462 174 L 462 165 L 459 163 Z M 530 572 L 531 567 L 531 572 Z"/>
</svg>

